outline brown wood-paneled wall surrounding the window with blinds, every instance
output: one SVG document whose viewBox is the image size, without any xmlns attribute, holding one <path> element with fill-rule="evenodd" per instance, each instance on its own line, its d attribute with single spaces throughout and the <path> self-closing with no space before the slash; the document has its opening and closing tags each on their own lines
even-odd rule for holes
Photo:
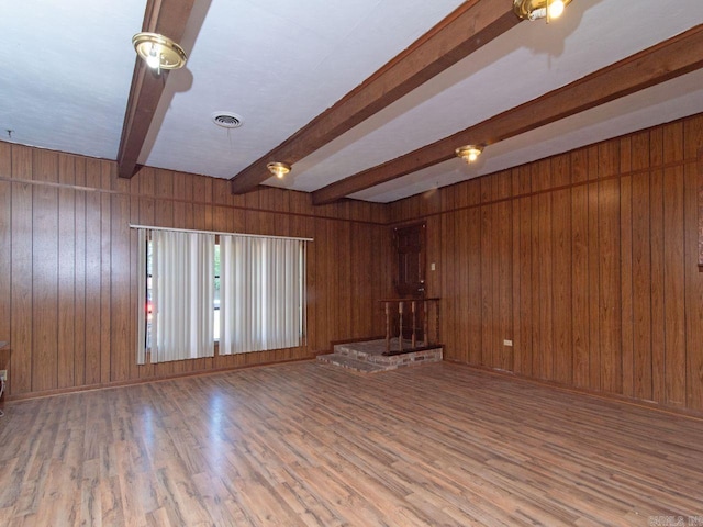
<svg viewBox="0 0 703 527">
<path fill-rule="evenodd" d="M 308 358 L 332 340 L 382 334 L 387 208 L 312 208 L 309 194 L 142 169 L 0 143 L 0 340 L 20 397 Z M 137 366 L 136 234 L 129 224 L 314 238 L 308 250 L 306 346 Z"/>
</svg>

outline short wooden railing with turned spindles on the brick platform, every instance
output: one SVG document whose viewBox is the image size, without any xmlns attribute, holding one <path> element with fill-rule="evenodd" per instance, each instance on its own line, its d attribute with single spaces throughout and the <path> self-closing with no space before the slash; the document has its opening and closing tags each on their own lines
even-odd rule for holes
<svg viewBox="0 0 703 527">
<path fill-rule="evenodd" d="M 381 304 L 386 315 L 386 355 L 409 352 L 439 344 L 438 298 L 386 299 L 381 300 Z M 419 336 L 421 330 L 422 335 Z M 431 332 L 434 338 L 431 337 Z M 391 346 L 395 337 L 398 346 Z"/>
</svg>

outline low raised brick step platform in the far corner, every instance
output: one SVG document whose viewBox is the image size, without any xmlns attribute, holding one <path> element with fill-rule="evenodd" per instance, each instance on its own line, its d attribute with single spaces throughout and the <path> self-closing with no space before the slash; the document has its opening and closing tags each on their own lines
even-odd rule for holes
<svg viewBox="0 0 703 527">
<path fill-rule="evenodd" d="M 398 348 L 398 341 L 392 344 L 392 348 Z M 361 373 L 376 373 L 427 362 L 440 362 L 442 349 L 442 345 L 438 345 L 433 348 L 386 356 L 383 355 L 386 340 L 369 340 L 366 343 L 337 344 L 334 347 L 334 352 L 319 355 L 317 360 Z"/>
</svg>

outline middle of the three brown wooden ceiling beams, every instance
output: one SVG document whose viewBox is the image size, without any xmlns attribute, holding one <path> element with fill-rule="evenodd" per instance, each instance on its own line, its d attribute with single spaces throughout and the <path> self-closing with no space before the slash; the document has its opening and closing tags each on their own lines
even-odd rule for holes
<svg viewBox="0 0 703 527">
<path fill-rule="evenodd" d="M 270 161 L 294 165 L 379 110 L 520 23 L 513 0 L 469 0 L 361 85 L 231 179 L 248 192 L 271 175 Z"/>
</svg>

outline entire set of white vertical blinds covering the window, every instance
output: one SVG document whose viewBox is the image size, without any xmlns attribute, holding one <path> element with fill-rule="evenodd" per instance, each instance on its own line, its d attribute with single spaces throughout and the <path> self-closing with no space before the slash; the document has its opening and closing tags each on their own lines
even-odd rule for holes
<svg viewBox="0 0 703 527">
<path fill-rule="evenodd" d="M 297 347 L 305 334 L 305 239 L 220 235 L 220 310 L 214 306 L 215 233 L 137 227 L 137 363 Z M 147 261 L 150 238 L 150 314 Z M 150 316 L 150 327 L 147 322 Z"/>
</svg>

